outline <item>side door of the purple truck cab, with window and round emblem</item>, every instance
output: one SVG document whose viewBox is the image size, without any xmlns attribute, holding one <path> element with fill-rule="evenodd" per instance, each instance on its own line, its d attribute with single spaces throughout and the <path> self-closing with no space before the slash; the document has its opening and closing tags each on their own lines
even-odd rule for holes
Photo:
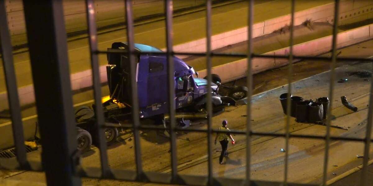
<svg viewBox="0 0 373 186">
<path fill-rule="evenodd" d="M 193 101 L 194 81 L 191 75 L 176 78 L 176 108 L 189 106 Z"/>
</svg>

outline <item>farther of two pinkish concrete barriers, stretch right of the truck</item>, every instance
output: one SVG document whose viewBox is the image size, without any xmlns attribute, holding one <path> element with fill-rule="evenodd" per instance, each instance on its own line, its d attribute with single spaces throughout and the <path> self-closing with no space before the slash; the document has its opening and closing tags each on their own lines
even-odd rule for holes
<svg viewBox="0 0 373 186">
<path fill-rule="evenodd" d="M 373 1 L 369 0 L 342 0 L 340 2 L 340 13 L 338 24 L 347 25 L 361 20 L 373 19 Z M 295 13 L 295 25 L 300 25 L 306 20 L 314 22 L 333 23 L 334 3 L 325 4 L 311 9 Z M 285 15 L 269 19 L 253 25 L 253 37 L 263 36 L 290 25 L 291 15 Z M 211 37 L 212 49 L 222 48 L 227 45 L 236 44 L 247 40 L 247 27 L 235 29 L 233 31 L 220 33 Z M 163 49 L 164 50 L 164 49 Z M 175 45 L 176 52 L 202 52 L 206 51 L 206 38 L 184 44 Z M 181 56 L 185 58 L 187 56 Z"/>
</svg>

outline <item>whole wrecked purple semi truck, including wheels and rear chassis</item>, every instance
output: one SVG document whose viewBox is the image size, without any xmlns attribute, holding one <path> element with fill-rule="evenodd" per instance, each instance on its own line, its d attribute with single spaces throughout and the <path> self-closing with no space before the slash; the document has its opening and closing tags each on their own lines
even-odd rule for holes
<svg viewBox="0 0 373 186">
<path fill-rule="evenodd" d="M 122 42 L 115 42 L 108 52 L 126 52 L 128 45 Z M 162 50 L 143 44 L 135 44 L 138 52 L 163 52 Z M 141 119 L 151 119 L 155 124 L 164 125 L 166 128 L 169 119 L 168 112 L 168 86 L 167 86 L 167 58 L 165 54 L 139 54 L 136 60 L 136 82 L 138 86 L 138 103 Z M 131 84 L 130 69 L 127 55 L 120 53 L 108 53 L 106 67 L 107 83 L 109 86 L 110 98 L 104 101 L 103 109 L 105 122 L 110 127 L 104 129 L 108 145 L 116 141 L 118 128 L 122 121 L 131 120 Z M 175 67 L 175 108 L 176 119 L 179 127 L 189 126 L 188 119 L 206 118 L 207 102 L 207 80 L 198 78 L 198 73 L 187 65 L 183 60 L 173 56 Z M 195 77 L 194 77 L 195 76 Z M 236 101 L 246 96 L 247 88 L 241 86 L 223 86 L 220 77 L 212 74 L 213 82 L 212 103 L 213 112 L 223 110 L 224 106 L 235 105 Z M 228 89 L 225 94 L 232 97 L 221 96 L 219 88 Z M 228 93 L 227 93 L 228 92 Z M 93 106 L 94 108 L 94 106 Z M 87 150 L 92 142 L 95 142 L 95 128 L 97 125 L 94 119 L 94 110 L 82 107 L 76 110 L 75 119 L 78 130 L 78 150 Z M 113 125 L 116 125 L 113 126 Z"/>
</svg>

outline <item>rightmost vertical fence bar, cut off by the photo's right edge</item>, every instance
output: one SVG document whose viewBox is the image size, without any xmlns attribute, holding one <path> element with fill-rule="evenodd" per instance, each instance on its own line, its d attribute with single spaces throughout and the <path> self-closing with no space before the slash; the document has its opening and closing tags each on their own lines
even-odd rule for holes
<svg viewBox="0 0 373 186">
<path fill-rule="evenodd" d="M 373 64 L 371 63 L 371 67 Z M 369 161 L 369 149 L 370 149 L 370 139 L 372 135 L 372 116 L 373 116 L 373 77 L 370 79 L 372 82 L 370 84 L 370 98 L 369 98 L 369 111 L 368 111 L 368 122 L 367 131 L 365 135 L 365 147 L 364 147 L 364 159 L 363 159 L 363 171 L 361 173 L 360 185 L 367 185 L 367 173 L 368 173 L 368 161 Z"/>
</svg>

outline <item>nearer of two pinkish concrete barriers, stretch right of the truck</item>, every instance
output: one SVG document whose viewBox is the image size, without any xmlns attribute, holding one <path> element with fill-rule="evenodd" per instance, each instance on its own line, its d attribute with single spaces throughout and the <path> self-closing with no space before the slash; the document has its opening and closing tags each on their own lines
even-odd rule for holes
<svg viewBox="0 0 373 186">
<path fill-rule="evenodd" d="M 337 47 L 346 47 L 362 41 L 373 39 L 372 32 L 373 24 L 362 26 L 356 29 L 338 33 Z M 329 52 L 332 49 L 332 35 L 323 38 L 315 39 L 312 41 L 304 42 L 294 45 L 294 55 L 309 55 L 315 56 Z M 278 49 L 275 51 L 267 52 L 266 55 L 288 55 L 289 47 Z M 295 62 L 295 61 L 294 61 Z M 252 61 L 253 74 L 265 71 L 271 68 L 277 68 L 288 64 L 287 59 L 282 58 L 254 58 Z M 212 68 L 212 73 L 219 74 L 222 82 L 228 82 L 237 78 L 246 76 L 247 72 L 247 59 L 233 61 L 227 64 L 219 65 Z M 206 76 L 206 70 L 198 71 L 201 77 Z"/>
</svg>

